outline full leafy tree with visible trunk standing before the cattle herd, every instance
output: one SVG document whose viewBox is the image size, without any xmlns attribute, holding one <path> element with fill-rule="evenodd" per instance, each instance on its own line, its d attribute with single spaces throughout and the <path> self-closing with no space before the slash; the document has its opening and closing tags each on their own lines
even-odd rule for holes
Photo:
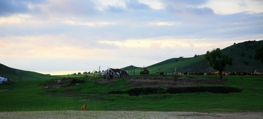
<svg viewBox="0 0 263 119">
<path fill-rule="evenodd" d="M 220 48 L 207 51 L 204 58 L 208 61 L 209 66 L 214 70 L 219 70 L 220 79 L 223 79 L 222 70 L 225 70 L 226 65 L 232 66 L 233 57 L 223 54 Z"/>
</svg>

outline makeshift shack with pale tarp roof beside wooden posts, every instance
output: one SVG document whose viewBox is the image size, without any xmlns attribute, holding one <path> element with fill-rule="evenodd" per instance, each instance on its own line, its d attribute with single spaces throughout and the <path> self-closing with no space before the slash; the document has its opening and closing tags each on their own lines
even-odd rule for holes
<svg viewBox="0 0 263 119">
<path fill-rule="evenodd" d="M 108 70 L 102 72 L 102 75 L 105 75 L 108 79 L 110 79 L 110 78 L 120 78 L 123 75 L 129 75 L 129 72 L 125 71 L 125 70 L 121 70 L 121 69 L 109 68 Z"/>
</svg>

